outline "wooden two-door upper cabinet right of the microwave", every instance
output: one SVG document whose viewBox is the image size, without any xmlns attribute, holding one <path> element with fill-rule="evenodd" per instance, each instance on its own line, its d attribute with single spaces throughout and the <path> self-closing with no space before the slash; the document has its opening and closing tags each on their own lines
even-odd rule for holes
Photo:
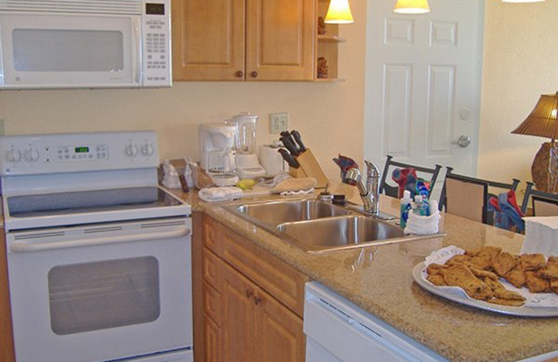
<svg viewBox="0 0 558 362">
<path fill-rule="evenodd" d="M 174 81 L 312 81 L 314 0 L 173 0 Z"/>
</svg>

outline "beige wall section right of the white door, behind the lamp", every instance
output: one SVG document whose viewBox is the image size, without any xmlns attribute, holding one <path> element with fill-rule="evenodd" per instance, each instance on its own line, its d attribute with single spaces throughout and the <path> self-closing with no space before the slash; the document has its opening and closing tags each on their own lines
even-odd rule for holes
<svg viewBox="0 0 558 362">
<path fill-rule="evenodd" d="M 557 15 L 556 0 L 486 0 L 479 177 L 531 180 L 533 158 L 550 141 L 510 132 L 539 95 L 558 91 Z"/>
</svg>

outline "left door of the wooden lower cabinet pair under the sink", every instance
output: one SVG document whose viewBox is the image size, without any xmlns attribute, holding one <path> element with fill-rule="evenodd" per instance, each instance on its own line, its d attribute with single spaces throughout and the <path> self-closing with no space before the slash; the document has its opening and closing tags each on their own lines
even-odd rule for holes
<svg viewBox="0 0 558 362">
<path fill-rule="evenodd" d="M 223 276 L 223 289 L 220 290 L 223 306 L 223 361 L 256 361 L 252 359 L 254 341 L 251 338 L 255 285 L 225 262 L 220 263 L 220 271 Z"/>
</svg>

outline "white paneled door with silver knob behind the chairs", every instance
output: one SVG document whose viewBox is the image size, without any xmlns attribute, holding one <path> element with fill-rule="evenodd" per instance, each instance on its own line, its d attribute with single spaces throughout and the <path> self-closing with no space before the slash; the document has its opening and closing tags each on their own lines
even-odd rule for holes
<svg viewBox="0 0 558 362">
<path fill-rule="evenodd" d="M 398 15 L 395 1 L 368 1 L 365 158 L 476 175 L 484 0 L 429 2 Z"/>
</svg>

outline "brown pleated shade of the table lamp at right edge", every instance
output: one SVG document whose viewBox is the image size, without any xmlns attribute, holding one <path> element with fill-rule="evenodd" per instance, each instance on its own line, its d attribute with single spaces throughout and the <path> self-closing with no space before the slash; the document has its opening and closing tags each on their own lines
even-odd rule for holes
<svg viewBox="0 0 558 362">
<path fill-rule="evenodd" d="M 558 92 L 541 95 L 531 114 L 511 133 L 558 139 Z"/>
</svg>

